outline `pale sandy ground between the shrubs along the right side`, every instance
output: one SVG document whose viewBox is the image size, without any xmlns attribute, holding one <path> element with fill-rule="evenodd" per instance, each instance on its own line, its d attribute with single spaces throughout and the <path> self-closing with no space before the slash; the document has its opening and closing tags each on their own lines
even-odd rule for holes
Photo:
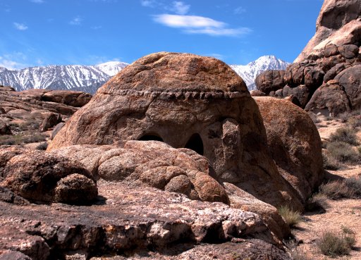
<svg viewBox="0 0 361 260">
<path fill-rule="evenodd" d="M 322 120 L 317 124 L 322 140 L 327 140 L 337 128 L 345 126 L 336 120 Z M 321 127 L 320 127 L 321 126 Z M 361 137 L 361 131 L 357 134 Z M 360 138 L 361 141 L 361 138 Z M 329 171 L 343 178 L 357 177 L 361 175 L 361 165 L 347 166 L 339 171 Z M 340 256 L 336 259 L 361 260 L 361 199 L 327 200 L 329 204 L 326 213 L 305 213 L 304 222 L 298 224 L 293 230 L 296 240 L 300 242 L 297 249 L 303 252 L 305 259 L 325 260 L 332 259 L 324 256 L 317 247 L 317 240 L 326 230 L 341 232 L 343 226 L 351 228 L 356 235 L 357 244 L 348 256 Z"/>
</svg>

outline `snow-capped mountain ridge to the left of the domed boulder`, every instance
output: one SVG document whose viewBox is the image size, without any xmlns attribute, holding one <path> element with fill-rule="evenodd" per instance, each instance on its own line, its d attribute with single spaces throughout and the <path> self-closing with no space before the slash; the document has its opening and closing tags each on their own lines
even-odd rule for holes
<svg viewBox="0 0 361 260">
<path fill-rule="evenodd" d="M 26 89 L 97 89 L 128 63 L 110 61 L 96 66 L 40 66 L 8 70 L 0 68 L 0 84 Z"/>
</svg>

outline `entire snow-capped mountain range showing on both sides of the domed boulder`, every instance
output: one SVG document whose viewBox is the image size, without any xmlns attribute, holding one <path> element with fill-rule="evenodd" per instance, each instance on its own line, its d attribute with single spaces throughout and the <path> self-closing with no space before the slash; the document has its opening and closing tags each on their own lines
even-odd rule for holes
<svg viewBox="0 0 361 260">
<path fill-rule="evenodd" d="M 247 65 L 231 65 L 245 80 L 248 89 L 255 89 L 255 78 L 264 70 L 285 70 L 288 66 L 275 56 L 262 56 Z M 8 70 L 0 67 L 0 85 L 26 89 L 71 89 L 94 94 L 112 76 L 128 63 L 109 61 L 95 66 L 41 66 Z"/>
</svg>

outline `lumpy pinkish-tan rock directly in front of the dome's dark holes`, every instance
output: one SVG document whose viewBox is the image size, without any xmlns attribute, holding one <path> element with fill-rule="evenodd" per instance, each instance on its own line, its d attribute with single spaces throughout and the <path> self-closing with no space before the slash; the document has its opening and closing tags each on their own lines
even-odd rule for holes
<svg viewBox="0 0 361 260">
<path fill-rule="evenodd" d="M 224 187 L 214 180 L 209 161 L 190 149 L 157 141 L 128 141 L 123 146 L 76 145 L 51 152 L 72 157 L 94 177 L 140 183 L 190 199 L 229 204 Z"/>
</svg>

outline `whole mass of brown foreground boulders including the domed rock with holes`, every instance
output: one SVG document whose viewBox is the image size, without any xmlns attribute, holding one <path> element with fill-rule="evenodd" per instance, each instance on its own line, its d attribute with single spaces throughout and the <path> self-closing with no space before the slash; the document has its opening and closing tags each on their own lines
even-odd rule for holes
<svg viewBox="0 0 361 260">
<path fill-rule="evenodd" d="M 84 95 L 51 97 L 75 105 Z M 253 99 L 215 58 L 167 52 L 135 61 L 84 104 L 54 128 L 46 152 L 1 148 L 0 250 L 289 259 L 290 230 L 276 208 L 302 211 L 324 175 L 305 111 Z M 59 122 L 45 118 L 41 128 Z"/>
</svg>

